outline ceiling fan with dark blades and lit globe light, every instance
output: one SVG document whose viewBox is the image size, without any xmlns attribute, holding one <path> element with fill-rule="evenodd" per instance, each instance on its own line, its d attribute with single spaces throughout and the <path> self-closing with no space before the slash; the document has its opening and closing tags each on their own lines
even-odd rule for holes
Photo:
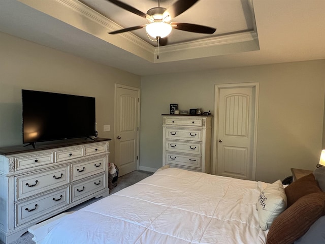
<svg viewBox="0 0 325 244">
<path fill-rule="evenodd" d="M 202 33 L 202 34 L 213 34 L 216 31 L 215 28 L 209 26 L 190 24 L 190 23 L 171 22 L 173 18 L 185 12 L 187 9 L 192 7 L 199 0 L 178 0 L 168 9 L 160 7 L 160 1 L 158 0 L 158 7 L 149 9 L 146 14 L 118 0 L 107 0 L 107 1 L 117 5 L 122 9 L 125 9 L 129 12 L 132 12 L 143 18 L 146 18 L 148 21 L 148 24 L 119 29 L 118 31 L 109 32 L 109 34 L 119 34 L 119 33 L 124 33 L 129 31 L 135 31 L 136 29 L 146 28 L 147 34 L 155 38 L 155 41 L 158 40 L 159 42 L 161 38 L 166 39 L 166 37 L 171 33 L 173 28 L 185 32 Z M 166 41 L 164 43 L 166 43 Z"/>
</svg>

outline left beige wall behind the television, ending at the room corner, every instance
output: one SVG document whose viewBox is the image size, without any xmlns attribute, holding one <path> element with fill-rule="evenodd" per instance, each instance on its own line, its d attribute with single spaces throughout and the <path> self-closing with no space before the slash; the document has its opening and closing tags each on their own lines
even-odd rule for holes
<svg viewBox="0 0 325 244">
<path fill-rule="evenodd" d="M 0 146 L 22 143 L 21 89 L 95 97 L 99 137 L 113 139 L 115 83 L 140 87 L 140 76 L 4 33 L 0 43 Z"/>
</svg>

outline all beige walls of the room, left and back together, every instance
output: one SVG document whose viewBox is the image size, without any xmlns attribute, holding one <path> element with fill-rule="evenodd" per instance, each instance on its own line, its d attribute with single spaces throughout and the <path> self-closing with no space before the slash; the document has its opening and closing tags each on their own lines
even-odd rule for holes
<svg viewBox="0 0 325 244">
<path fill-rule="evenodd" d="M 256 179 L 274 181 L 290 168 L 313 169 L 322 148 L 325 60 L 166 74 L 140 78 L 90 60 L 0 33 L 0 146 L 22 143 L 21 89 L 96 98 L 99 136 L 113 138 L 114 84 L 141 85 L 141 169 L 162 162 L 162 113 L 214 110 L 214 85 L 259 82 Z M 141 79 L 141 84 L 140 84 Z M 103 125 L 111 125 L 103 132 Z M 110 143 L 114 159 L 114 141 Z"/>
</svg>

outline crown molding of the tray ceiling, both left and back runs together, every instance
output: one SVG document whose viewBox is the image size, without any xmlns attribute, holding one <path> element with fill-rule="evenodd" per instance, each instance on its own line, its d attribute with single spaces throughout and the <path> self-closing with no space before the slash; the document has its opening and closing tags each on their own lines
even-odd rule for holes
<svg viewBox="0 0 325 244">
<path fill-rule="evenodd" d="M 17 1 L 81 29 L 83 32 L 98 37 L 107 43 L 144 58 L 151 63 L 164 63 L 175 60 L 259 50 L 258 37 L 254 26 L 254 30 L 243 33 L 209 37 L 159 47 L 160 58 L 156 59 L 157 47 L 152 46 L 131 32 L 114 36 L 109 35 L 108 32 L 122 27 L 78 0 Z M 253 10 L 252 14 L 254 14 Z"/>
</svg>

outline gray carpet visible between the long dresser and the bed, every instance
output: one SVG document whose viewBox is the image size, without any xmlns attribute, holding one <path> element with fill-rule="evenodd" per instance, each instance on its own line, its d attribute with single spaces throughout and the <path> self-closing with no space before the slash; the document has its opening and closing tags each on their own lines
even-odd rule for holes
<svg viewBox="0 0 325 244">
<path fill-rule="evenodd" d="M 113 188 L 112 190 L 110 190 L 110 195 L 115 192 L 118 192 L 119 190 L 121 190 L 125 187 L 135 184 L 136 182 L 148 177 L 151 174 L 152 174 L 151 172 L 146 172 L 146 171 L 133 171 L 131 173 L 128 173 L 128 174 L 125 174 L 125 175 L 119 177 L 117 180 L 117 186 L 115 188 Z M 74 206 L 74 207 L 68 209 L 67 211 L 76 211 L 76 210 L 78 210 L 82 207 L 85 207 L 85 206 L 89 205 L 90 203 L 93 203 L 100 199 L 101 199 L 101 197 L 89 199 L 88 201 L 85 201 L 77 206 Z M 29 232 L 26 232 L 19 239 L 15 240 L 14 242 L 11 242 L 11 244 L 35 244 L 35 242 L 31 240 L 32 237 L 34 237 L 32 234 L 30 234 Z M 0 244 L 3 244 L 3 242 L 0 241 Z"/>
</svg>

